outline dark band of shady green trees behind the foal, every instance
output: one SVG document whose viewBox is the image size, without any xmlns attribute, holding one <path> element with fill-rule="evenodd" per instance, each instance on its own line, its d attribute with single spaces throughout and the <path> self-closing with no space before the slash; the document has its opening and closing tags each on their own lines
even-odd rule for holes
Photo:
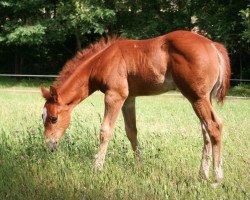
<svg viewBox="0 0 250 200">
<path fill-rule="evenodd" d="M 57 74 L 101 36 L 146 39 L 195 30 L 223 43 L 232 78 L 250 79 L 247 0 L 0 1 L 0 73 Z"/>
</svg>

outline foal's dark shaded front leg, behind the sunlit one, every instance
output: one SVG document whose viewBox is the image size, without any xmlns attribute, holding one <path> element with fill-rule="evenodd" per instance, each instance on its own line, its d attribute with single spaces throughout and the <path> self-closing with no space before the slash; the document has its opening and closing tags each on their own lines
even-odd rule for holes
<svg viewBox="0 0 250 200">
<path fill-rule="evenodd" d="M 137 129 L 136 129 L 136 114 L 135 114 L 135 97 L 128 98 L 123 107 L 122 114 L 125 123 L 125 130 L 127 137 L 131 143 L 135 158 L 140 160 L 140 152 L 137 142 Z"/>
</svg>

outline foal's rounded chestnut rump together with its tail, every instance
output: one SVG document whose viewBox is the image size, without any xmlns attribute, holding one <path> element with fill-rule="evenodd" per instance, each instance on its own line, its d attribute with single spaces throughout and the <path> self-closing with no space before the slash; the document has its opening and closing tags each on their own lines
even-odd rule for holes
<svg viewBox="0 0 250 200">
<path fill-rule="evenodd" d="M 229 87 L 230 63 L 223 45 L 188 31 L 166 35 L 173 79 L 189 100 L 215 93 L 222 102 Z"/>
</svg>

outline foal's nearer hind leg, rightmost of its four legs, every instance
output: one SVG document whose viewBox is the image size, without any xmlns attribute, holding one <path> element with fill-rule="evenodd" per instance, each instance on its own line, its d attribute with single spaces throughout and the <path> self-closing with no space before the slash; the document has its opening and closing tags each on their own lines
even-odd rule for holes
<svg viewBox="0 0 250 200">
<path fill-rule="evenodd" d="M 216 182 L 223 178 L 222 171 L 222 122 L 214 112 L 208 98 L 200 98 L 193 102 L 193 108 L 207 131 L 213 151 L 213 166 Z M 203 154 L 204 155 L 204 154 Z"/>
</svg>

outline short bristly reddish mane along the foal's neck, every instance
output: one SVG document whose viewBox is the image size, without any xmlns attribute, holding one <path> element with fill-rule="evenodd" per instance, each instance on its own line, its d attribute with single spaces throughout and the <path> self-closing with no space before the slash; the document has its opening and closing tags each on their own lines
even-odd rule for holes
<svg viewBox="0 0 250 200">
<path fill-rule="evenodd" d="M 103 49 L 106 49 L 113 43 L 122 38 L 119 36 L 112 36 L 108 38 L 102 37 L 99 42 L 94 44 L 90 44 L 87 48 L 78 51 L 76 55 L 66 62 L 62 71 L 59 73 L 58 78 L 54 82 L 53 86 L 59 88 L 62 84 L 67 80 L 67 78 L 76 70 L 76 68 L 85 60 L 89 59 L 90 57 L 96 55 Z"/>
</svg>

